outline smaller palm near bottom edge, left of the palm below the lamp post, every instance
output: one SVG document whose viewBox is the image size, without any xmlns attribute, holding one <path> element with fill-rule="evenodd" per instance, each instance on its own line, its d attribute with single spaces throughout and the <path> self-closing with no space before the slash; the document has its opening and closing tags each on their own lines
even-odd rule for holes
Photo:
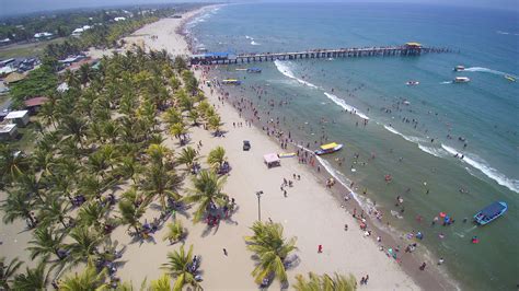
<svg viewBox="0 0 519 291">
<path fill-rule="evenodd" d="M 175 279 L 173 290 L 180 291 L 185 284 L 200 289 L 191 268 L 193 264 L 193 245 L 189 246 L 187 254 L 184 251 L 184 245 L 181 246 L 180 252 L 168 253 L 168 263 L 162 264 L 162 269 L 166 270 Z"/>
</svg>

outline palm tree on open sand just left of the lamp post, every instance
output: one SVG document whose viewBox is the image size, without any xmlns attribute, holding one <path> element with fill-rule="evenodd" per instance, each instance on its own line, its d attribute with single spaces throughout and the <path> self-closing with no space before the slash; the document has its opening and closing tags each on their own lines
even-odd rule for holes
<svg viewBox="0 0 519 291">
<path fill-rule="evenodd" d="M 198 203 L 193 221 L 199 222 L 206 211 L 215 209 L 218 206 L 224 206 L 228 196 L 222 193 L 226 176 L 218 176 L 212 171 L 203 170 L 199 176 L 193 176 L 193 189 L 188 189 L 189 196 L 182 198 L 187 203 Z"/>
</svg>

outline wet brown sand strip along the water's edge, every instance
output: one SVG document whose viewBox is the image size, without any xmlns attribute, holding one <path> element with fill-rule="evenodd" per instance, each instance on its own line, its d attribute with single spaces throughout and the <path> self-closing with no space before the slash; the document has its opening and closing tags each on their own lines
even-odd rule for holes
<svg viewBox="0 0 519 291">
<path fill-rule="evenodd" d="M 182 31 L 184 31 L 184 27 L 182 27 Z M 186 43 L 188 43 L 188 44 L 193 43 L 193 40 L 191 40 L 188 34 L 183 34 L 183 36 L 185 38 L 188 38 L 188 39 L 186 39 Z M 204 80 L 204 79 L 201 79 L 201 80 Z M 222 94 L 220 93 L 220 95 L 222 95 Z M 234 101 L 237 101 L 238 98 L 239 98 L 238 96 L 234 96 Z M 226 97 L 226 103 L 228 105 L 233 106 L 233 110 L 238 113 L 238 108 L 232 104 L 231 101 L 229 101 L 228 97 Z M 241 109 L 240 109 L 240 113 L 242 113 Z M 258 119 L 254 120 L 254 114 L 252 114 L 251 112 L 245 112 L 244 115 L 246 115 L 246 118 L 243 118 L 244 120 L 247 120 L 247 118 L 253 120 L 252 121 L 253 127 L 255 127 L 258 131 L 261 131 L 261 133 L 264 137 L 267 137 L 270 141 L 273 141 L 275 143 L 278 143 L 278 146 L 279 146 L 279 143 L 280 143 L 279 139 L 276 139 L 272 135 L 266 135 L 266 132 L 265 132 L 266 130 L 261 128 L 262 126 L 265 126 L 263 120 L 261 120 L 261 121 L 258 121 Z M 224 119 L 224 118 L 222 118 L 222 119 Z M 285 152 L 290 152 L 291 150 L 298 151 L 299 149 L 304 149 L 301 144 L 297 144 L 296 142 L 292 142 L 292 141 L 290 141 L 289 144 L 290 144 L 291 149 L 289 149 L 289 150 L 285 149 Z M 281 148 L 278 148 L 278 149 L 280 151 L 284 151 Z M 319 184 L 322 184 L 322 187 L 325 187 L 325 183 L 330 177 L 335 178 L 335 181 L 337 181 L 337 179 L 339 181 L 339 185 L 331 187 L 330 191 L 331 191 L 335 202 L 337 203 L 337 206 L 339 206 L 341 208 L 344 208 L 346 210 L 347 214 L 351 216 L 350 211 L 353 209 L 357 209 L 357 208 L 361 209 L 362 211 L 370 211 L 370 212 L 371 212 L 372 209 L 376 210 L 374 207 L 371 208 L 372 206 L 367 206 L 367 205 L 361 203 L 360 200 L 359 200 L 360 198 L 358 198 L 360 196 L 360 194 L 354 193 L 353 189 L 350 189 L 347 185 L 343 184 L 343 182 L 339 178 L 337 178 L 332 172 L 326 170 L 326 166 L 324 165 L 324 163 L 322 161 L 320 161 L 320 158 L 318 159 L 318 163 L 321 165 L 321 168 L 324 167 L 325 171 L 321 171 L 319 173 L 316 167 L 312 166 L 312 167 L 310 167 L 309 172 L 312 173 L 312 175 L 315 177 L 315 179 L 319 182 Z M 354 198 L 354 199 L 349 199 L 349 200 L 355 200 L 355 201 L 344 202 L 343 197 L 345 196 L 345 193 L 348 194 L 351 198 Z M 353 194 L 353 196 L 351 196 L 351 194 Z M 411 240 L 404 241 L 405 238 L 403 237 L 403 233 L 401 233 L 396 229 L 390 226 L 389 224 L 385 225 L 381 221 L 377 221 L 376 219 L 373 219 L 373 217 L 371 214 L 366 216 L 365 219 L 366 219 L 366 221 L 368 222 L 369 225 L 374 225 L 374 228 L 373 228 L 374 235 L 371 235 L 372 237 L 370 238 L 373 243 L 377 241 L 377 238 L 376 238 L 377 235 L 379 235 L 382 238 L 382 242 L 384 242 L 383 245 L 385 245 L 385 246 L 388 246 L 388 245 L 399 245 L 400 246 L 401 244 L 406 245 L 406 244 L 411 244 L 411 243 L 414 242 L 414 241 L 411 241 Z M 422 253 L 424 253 L 424 248 L 425 247 L 422 246 L 422 248 L 420 248 Z M 384 252 L 385 252 L 385 248 L 384 248 Z M 427 251 L 426 248 L 425 248 L 425 252 L 427 254 L 416 254 L 415 253 L 413 255 L 405 256 L 405 260 L 399 264 L 401 266 L 401 269 L 406 275 L 408 275 L 411 278 L 413 278 L 413 280 L 420 288 L 423 288 L 425 290 L 454 290 L 454 289 L 460 289 L 460 287 L 457 284 L 458 282 L 455 282 L 454 279 L 450 278 L 445 272 L 441 273 L 441 270 L 439 268 L 437 268 L 437 266 L 436 266 L 437 260 L 435 258 L 430 257 L 430 252 Z M 402 247 L 402 251 L 400 252 L 400 254 L 403 254 L 403 247 Z M 418 269 L 418 266 L 422 264 L 420 261 L 424 261 L 423 260 L 424 258 L 428 264 L 428 272 L 427 273 L 425 273 L 425 272 L 423 272 Z M 430 271 L 431 267 L 432 267 L 432 271 Z"/>
</svg>

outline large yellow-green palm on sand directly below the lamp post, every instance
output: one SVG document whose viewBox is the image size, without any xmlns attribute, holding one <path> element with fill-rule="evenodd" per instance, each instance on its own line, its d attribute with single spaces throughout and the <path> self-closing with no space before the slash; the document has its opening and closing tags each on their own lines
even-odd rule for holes
<svg viewBox="0 0 519 291">
<path fill-rule="evenodd" d="M 256 283 L 261 284 L 264 278 L 272 273 L 281 282 L 287 283 L 285 259 L 290 252 L 297 249 L 296 237 L 286 242 L 280 223 L 254 222 L 252 236 L 245 236 L 247 249 L 254 252 L 258 258 L 256 268 L 252 271 Z"/>
</svg>

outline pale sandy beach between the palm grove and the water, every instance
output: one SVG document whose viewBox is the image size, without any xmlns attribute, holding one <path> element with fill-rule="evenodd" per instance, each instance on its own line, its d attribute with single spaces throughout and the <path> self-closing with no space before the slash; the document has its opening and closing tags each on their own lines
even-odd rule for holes
<svg viewBox="0 0 519 291">
<path fill-rule="evenodd" d="M 183 19 L 162 19 L 140 28 L 125 40 L 127 43 L 142 40 L 146 49 L 165 49 L 172 56 L 188 55 L 186 40 L 175 31 L 186 19 L 208 8 L 188 12 L 183 15 Z M 109 54 L 111 51 L 107 50 L 91 49 L 89 51 L 89 55 L 95 58 Z M 201 70 L 195 70 L 195 73 L 203 84 Z M 435 290 L 445 289 L 434 279 L 425 278 L 425 273 L 418 273 L 417 265 L 415 266 L 417 276 L 412 278 L 396 260 L 380 251 L 380 244 L 374 240 L 378 234 L 365 236 L 365 232 L 359 229 L 359 223 L 351 213 L 341 206 L 313 171 L 298 163 L 297 158 L 282 159 L 281 166 L 267 168 L 263 162 L 263 155 L 281 152 L 279 144 L 261 129 L 245 126 L 245 119 L 241 118 L 231 105 L 219 102 L 218 94 L 216 92 L 211 94 L 210 88 L 200 85 L 200 89 L 204 90 L 209 102 L 216 106 L 222 118 L 222 129 L 228 132 L 224 137 L 218 138 L 201 127 L 191 128 L 189 143 L 196 148 L 195 143 L 201 141 L 204 144 L 200 149 L 201 161 L 205 161 L 208 152 L 217 146 L 226 149 L 232 171 L 223 191 L 235 198 L 238 203 L 238 211 L 229 220 L 222 221 L 218 228 L 212 229 L 203 222 L 193 224 L 192 210 L 177 213 L 177 219 L 188 230 L 185 244 L 187 246 L 193 244 L 195 254 L 201 256 L 204 289 L 257 289 L 251 276 L 254 260 L 251 259 L 252 253 L 245 248 L 243 237 L 252 234 L 249 228 L 258 219 L 258 199 L 255 195 L 258 190 L 264 193 L 261 198 L 262 220 L 272 219 L 274 222 L 279 222 L 285 228 L 286 237 L 297 237 L 296 255 L 299 259 L 288 270 L 290 283 L 293 283 L 296 275 L 307 275 L 312 271 L 353 273 L 357 281 L 369 275 L 369 283 L 360 287 L 362 289 L 419 290 L 420 286 L 423 287 L 420 281 L 426 282 L 428 287 L 434 287 Z M 233 123 L 243 123 L 244 126 L 233 128 Z M 242 150 L 243 140 L 251 141 L 251 151 Z M 181 149 L 177 140 L 171 136 L 166 138 L 164 144 L 175 152 Z M 300 175 L 301 179 L 293 181 L 293 174 Z M 293 181 L 293 187 L 287 188 L 287 197 L 279 189 L 284 178 Z M 187 177 L 181 195 L 186 195 L 185 188 L 189 186 L 191 182 Z M 150 207 L 145 217 L 150 221 L 158 216 L 159 211 Z M 347 231 L 344 230 L 345 224 L 349 225 Z M 0 238 L 3 244 L 0 249 L 8 257 L 16 255 L 27 263 L 30 259 L 24 248 L 31 235 L 30 232 L 23 231 L 23 228 L 22 221 L 7 226 L 2 224 Z M 126 246 L 123 256 L 125 264 L 117 275 L 123 281 L 131 281 L 134 287 L 140 287 L 142 280 L 157 279 L 162 273 L 160 267 L 166 263 L 168 252 L 178 249 L 181 244 L 170 245 L 169 242 L 162 241 L 165 228 L 154 234 L 154 242 L 132 243 L 126 229 L 119 226 L 112 234 L 113 241 Z M 323 253 L 318 253 L 318 245 L 323 246 Z M 384 237 L 381 245 L 385 245 Z M 228 255 L 223 254 L 223 248 L 228 251 Z M 270 287 L 272 290 L 277 288 L 279 288 L 278 282 Z"/>
</svg>

